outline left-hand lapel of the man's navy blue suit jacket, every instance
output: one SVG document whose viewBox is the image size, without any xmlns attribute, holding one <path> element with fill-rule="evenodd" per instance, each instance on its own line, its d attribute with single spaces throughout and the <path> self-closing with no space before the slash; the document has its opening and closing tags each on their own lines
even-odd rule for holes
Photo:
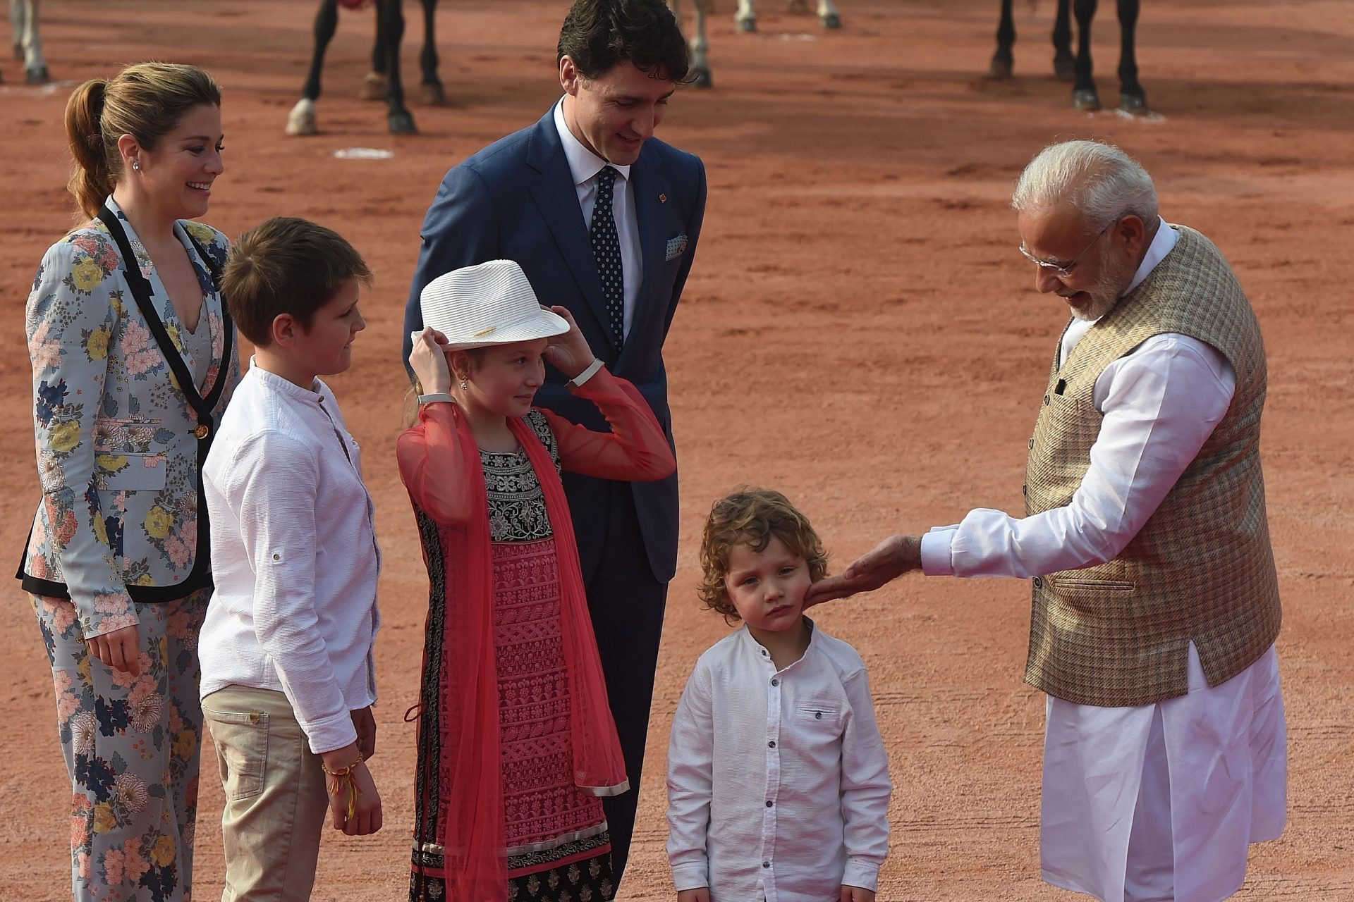
<svg viewBox="0 0 1354 902">
<path fill-rule="evenodd" d="M 578 192 L 574 189 L 573 173 L 569 172 L 569 160 L 559 145 L 554 107 L 540 118 L 527 139 L 527 165 L 536 172 L 528 187 L 531 199 L 550 226 L 559 253 L 569 264 L 574 281 L 578 283 L 580 293 L 592 307 L 597 322 L 605 323 L 607 302 L 601 293 L 597 261 L 588 238 L 588 227 L 584 224 L 582 208 L 578 206 Z"/>
</svg>

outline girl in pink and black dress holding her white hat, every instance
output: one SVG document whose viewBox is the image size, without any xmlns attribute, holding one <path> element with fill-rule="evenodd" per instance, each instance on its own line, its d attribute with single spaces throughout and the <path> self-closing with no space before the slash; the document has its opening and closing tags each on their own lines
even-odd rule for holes
<svg viewBox="0 0 1354 902">
<path fill-rule="evenodd" d="M 454 270 L 421 302 L 425 394 L 397 448 L 431 583 L 410 899 L 611 899 L 601 797 L 630 784 L 559 472 L 655 480 L 676 460 L 517 264 Z M 546 361 L 611 433 L 532 407 Z"/>
</svg>

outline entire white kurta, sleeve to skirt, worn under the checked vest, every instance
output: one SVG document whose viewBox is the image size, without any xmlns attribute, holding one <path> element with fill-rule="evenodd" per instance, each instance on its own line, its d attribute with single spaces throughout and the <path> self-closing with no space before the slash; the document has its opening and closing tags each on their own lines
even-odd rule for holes
<svg viewBox="0 0 1354 902">
<path fill-rule="evenodd" d="M 1177 239 L 1162 220 L 1127 291 Z M 1060 361 L 1090 326 L 1071 325 Z M 1144 341 L 1095 380 L 1105 419 L 1072 502 L 1025 518 L 969 511 L 922 537 L 923 572 L 1029 577 L 1113 560 L 1198 454 L 1235 387 L 1215 348 L 1174 333 Z M 1040 856 L 1049 883 L 1105 902 L 1217 902 L 1242 884 L 1247 844 L 1282 832 L 1274 649 L 1216 687 L 1193 644 L 1189 653 L 1181 698 L 1136 707 L 1048 699 Z"/>
</svg>

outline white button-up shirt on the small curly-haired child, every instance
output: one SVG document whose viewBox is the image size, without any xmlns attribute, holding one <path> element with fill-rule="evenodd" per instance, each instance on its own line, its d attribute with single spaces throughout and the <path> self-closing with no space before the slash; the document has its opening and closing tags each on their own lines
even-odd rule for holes
<svg viewBox="0 0 1354 902">
<path fill-rule="evenodd" d="M 888 853 L 888 756 L 865 664 L 814 629 L 776 669 L 747 627 L 692 671 L 668 745 L 668 859 L 711 902 L 837 902 Z"/>
</svg>

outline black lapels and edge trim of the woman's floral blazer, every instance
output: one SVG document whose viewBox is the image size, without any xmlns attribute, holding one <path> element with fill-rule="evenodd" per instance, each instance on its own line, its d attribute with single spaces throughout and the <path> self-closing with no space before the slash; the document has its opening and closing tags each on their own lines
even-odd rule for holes
<svg viewBox="0 0 1354 902">
<path fill-rule="evenodd" d="M 207 522 L 207 508 L 202 499 L 202 465 L 206 462 L 207 452 L 211 450 L 211 441 L 215 438 L 217 421 L 211 411 L 217 406 L 217 402 L 221 400 L 221 394 L 225 391 L 226 383 L 230 380 L 230 356 L 234 353 L 236 330 L 234 323 L 230 319 L 230 311 L 226 310 L 226 304 L 222 303 L 221 319 L 223 334 L 221 337 L 221 365 L 217 368 L 215 381 L 207 391 L 207 395 L 203 396 L 198 391 L 198 385 L 194 383 L 192 373 L 188 372 L 188 364 L 184 362 L 183 354 L 180 354 L 179 349 L 175 348 L 173 341 L 169 338 L 169 333 L 165 330 L 164 322 L 160 319 L 160 314 L 152 302 L 154 289 L 150 287 L 150 280 L 141 275 L 141 266 L 137 264 L 137 256 L 131 252 L 131 242 L 127 241 L 127 233 L 122 227 L 122 223 L 118 222 L 116 214 L 106 206 L 99 211 L 99 219 L 108 227 L 108 235 L 112 238 L 114 243 L 118 245 L 118 253 L 122 257 L 122 275 L 126 279 L 127 288 L 131 291 L 133 299 L 137 302 L 137 308 L 141 311 L 142 319 L 146 321 L 146 327 L 150 330 L 150 335 L 156 339 L 156 345 L 160 348 L 160 353 L 164 356 L 165 362 L 173 372 L 180 391 L 183 391 L 184 398 L 188 400 L 188 404 L 198 417 L 198 426 L 192 430 L 194 438 L 198 440 L 198 548 L 194 556 L 192 571 L 183 579 L 183 581 L 172 586 L 126 587 L 127 594 L 134 602 L 172 602 L 184 598 L 199 588 L 207 588 L 211 586 L 211 526 Z M 188 241 L 192 242 L 194 250 L 198 252 L 198 257 L 202 258 L 207 270 L 211 273 L 213 288 L 219 293 L 221 268 L 207 253 L 206 247 L 203 247 L 202 243 L 192 237 L 192 234 L 188 234 Z M 31 536 L 30 530 L 30 541 Z M 28 542 L 24 542 L 24 557 L 19 561 L 19 572 L 16 573 L 16 576 L 23 580 L 24 591 L 34 592 L 35 595 L 70 598 L 70 594 L 64 583 L 38 579 L 23 572 L 23 564 L 27 561 L 28 556 L 27 548 Z"/>
</svg>

